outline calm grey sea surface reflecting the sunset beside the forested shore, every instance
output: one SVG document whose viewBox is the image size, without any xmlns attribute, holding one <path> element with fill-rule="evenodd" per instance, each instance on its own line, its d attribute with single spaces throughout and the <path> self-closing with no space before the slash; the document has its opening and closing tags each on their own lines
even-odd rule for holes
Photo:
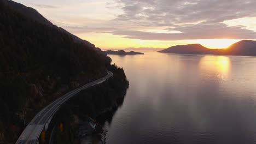
<svg viewBox="0 0 256 144">
<path fill-rule="evenodd" d="M 130 87 L 106 143 L 256 143 L 256 57 L 109 55 Z"/>
</svg>

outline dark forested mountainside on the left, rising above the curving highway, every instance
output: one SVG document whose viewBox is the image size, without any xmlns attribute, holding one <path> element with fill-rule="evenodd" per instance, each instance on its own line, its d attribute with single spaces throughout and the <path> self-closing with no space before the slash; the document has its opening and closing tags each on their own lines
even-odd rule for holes
<svg viewBox="0 0 256 144">
<path fill-rule="evenodd" d="M 0 143 L 15 143 L 44 106 L 105 76 L 107 70 L 114 76 L 98 93 L 109 91 L 104 101 L 124 97 L 129 83 L 123 69 L 110 64 L 111 59 L 88 41 L 13 1 L 0 0 L 0 17 Z M 86 100 L 79 102 L 90 103 Z M 95 109 L 101 111 L 101 106 L 95 105 Z"/>
</svg>

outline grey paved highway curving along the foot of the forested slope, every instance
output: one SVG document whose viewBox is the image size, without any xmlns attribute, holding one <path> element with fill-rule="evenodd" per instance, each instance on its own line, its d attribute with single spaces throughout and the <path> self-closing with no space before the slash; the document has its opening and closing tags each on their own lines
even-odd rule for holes
<svg viewBox="0 0 256 144">
<path fill-rule="evenodd" d="M 61 105 L 65 103 L 68 99 L 72 98 L 75 94 L 79 93 L 80 91 L 91 86 L 98 85 L 113 76 L 113 73 L 111 71 L 107 71 L 107 73 L 108 74 L 102 77 L 101 79 L 98 79 L 82 87 L 74 89 L 73 91 L 66 93 L 59 99 L 56 99 L 55 101 L 53 101 L 53 103 L 49 104 L 48 106 L 45 106 L 43 110 L 37 113 L 37 115 L 32 119 L 30 124 L 27 125 L 27 127 L 20 135 L 18 141 L 16 141 L 16 144 L 36 144 L 42 130 L 45 127 L 45 124 L 48 121 L 51 121 L 52 116 L 55 114 L 57 110 L 59 110 Z"/>
</svg>

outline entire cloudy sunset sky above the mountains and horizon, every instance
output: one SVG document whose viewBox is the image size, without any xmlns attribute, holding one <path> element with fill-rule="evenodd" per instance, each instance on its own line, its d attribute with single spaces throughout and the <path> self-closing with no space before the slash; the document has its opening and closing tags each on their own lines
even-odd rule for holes
<svg viewBox="0 0 256 144">
<path fill-rule="evenodd" d="M 102 49 L 256 39 L 256 1 L 15 0 Z"/>
</svg>

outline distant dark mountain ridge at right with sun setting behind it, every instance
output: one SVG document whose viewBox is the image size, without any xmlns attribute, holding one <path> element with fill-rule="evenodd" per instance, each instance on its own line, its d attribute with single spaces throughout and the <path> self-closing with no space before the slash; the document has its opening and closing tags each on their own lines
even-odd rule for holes
<svg viewBox="0 0 256 144">
<path fill-rule="evenodd" d="M 256 56 L 256 41 L 241 40 L 226 49 L 208 49 L 200 44 L 177 45 L 158 51 L 163 53 L 181 53 L 193 55 L 234 55 Z"/>
</svg>

